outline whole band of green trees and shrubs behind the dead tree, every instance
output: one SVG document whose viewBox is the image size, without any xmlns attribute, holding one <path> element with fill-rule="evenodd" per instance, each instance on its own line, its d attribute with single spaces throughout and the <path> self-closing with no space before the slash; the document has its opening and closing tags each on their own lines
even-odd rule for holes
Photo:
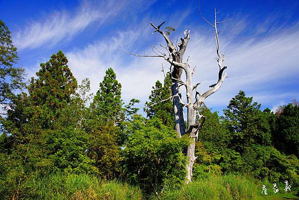
<svg viewBox="0 0 299 200">
<path fill-rule="evenodd" d="M 147 194 L 180 188 L 189 139 L 174 132 L 171 101 L 158 103 L 171 95 L 168 76 L 152 87 L 147 117 L 137 114 L 139 100 L 123 102 L 112 68 L 93 95 L 89 79 L 78 84 L 62 51 L 41 63 L 26 85 L 23 69 L 12 67 L 16 48 L 0 22 L 0 103 L 6 111 L 0 118 L 0 197 L 25 198 L 24 183 L 61 174 L 123 180 Z M 273 183 L 288 180 L 298 190 L 299 106 L 294 102 L 276 113 L 260 108 L 243 91 L 223 116 L 201 108 L 206 119 L 193 180 L 237 172 Z"/>
</svg>

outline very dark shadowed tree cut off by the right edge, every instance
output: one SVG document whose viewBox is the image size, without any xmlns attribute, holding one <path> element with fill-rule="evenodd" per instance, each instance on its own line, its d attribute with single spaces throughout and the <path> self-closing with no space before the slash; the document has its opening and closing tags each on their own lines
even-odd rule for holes
<svg viewBox="0 0 299 200">
<path fill-rule="evenodd" d="M 288 104 L 281 109 L 282 112 L 276 119 L 275 147 L 286 154 L 299 157 L 299 106 Z"/>
</svg>

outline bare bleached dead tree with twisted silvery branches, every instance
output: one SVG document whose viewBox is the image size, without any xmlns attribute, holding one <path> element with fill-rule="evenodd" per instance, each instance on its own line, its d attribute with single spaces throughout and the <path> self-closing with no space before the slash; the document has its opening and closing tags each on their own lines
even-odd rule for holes
<svg viewBox="0 0 299 200">
<path fill-rule="evenodd" d="M 191 69 L 189 66 L 189 57 L 185 62 L 183 62 L 183 56 L 184 52 L 186 50 L 188 41 L 190 39 L 190 31 L 185 30 L 184 31 L 184 38 L 180 38 L 180 42 L 178 44 L 174 43 L 170 40 L 169 35 L 165 34 L 161 29 L 161 25 L 165 22 L 162 22 L 160 25 L 155 26 L 151 22 L 150 25 L 154 28 L 154 32 L 160 33 L 165 41 L 167 46 L 164 46 L 162 44 L 159 44 L 159 46 L 164 51 L 161 51 L 157 47 L 151 45 L 152 51 L 154 52 L 154 55 L 140 55 L 131 53 L 124 49 L 129 54 L 135 55 L 135 56 L 141 56 L 141 57 L 160 57 L 163 58 L 166 62 L 170 64 L 169 67 L 169 75 L 172 81 L 171 86 L 171 97 L 161 100 L 161 102 L 172 99 L 173 101 L 173 108 L 174 108 L 174 116 L 175 116 L 175 131 L 178 134 L 178 137 L 181 137 L 185 134 L 188 134 L 190 137 L 190 144 L 187 147 L 186 150 L 186 156 L 188 158 L 187 164 L 186 164 L 186 182 L 189 183 L 192 178 L 192 168 L 193 164 L 196 160 L 195 157 L 195 139 L 198 137 L 198 131 L 203 126 L 203 123 L 205 121 L 205 117 L 201 114 L 199 114 L 198 109 L 202 106 L 204 100 L 216 92 L 222 85 L 224 79 L 226 78 L 226 72 L 223 75 L 224 70 L 227 68 L 226 66 L 223 66 L 223 61 L 225 59 L 225 56 L 220 53 L 219 51 L 219 38 L 218 38 L 218 30 L 217 30 L 217 24 L 223 22 L 223 21 L 217 21 L 217 11 L 216 8 L 215 11 L 215 21 L 214 23 L 210 23 L 207 19 L 205 19 L 199 10 L 200 16 L 215 29 L 215 39 L 216 39 L 216 52 L 218 58 L 216 58 L 217 64 L 218 64 L 218 81 L 217 83 L 210 86 L 210 89 L 203 93 L 199 93 L 197 91 L 197 87 L 200 83 L 193 84 L 192 83 L 192 77 L 194 75 L 196 66 Z M 185 81 L 181 80 L 182 72 L 185 73 Z M 184 87 L 186 90 L 186 102 L 183 102 L 182 95 L 181 95 L 181 87 Z M 161 103 L 160 102 L 160 103 Z M 152 106 L 152 105 L 151 105 Z M 185 119 L 184 119 L 184 107 L 187 108 L 187 128 L 185 127 Z M 200 122 L 196 122 L 196 115 L 199 117 Z"/>
</svg>

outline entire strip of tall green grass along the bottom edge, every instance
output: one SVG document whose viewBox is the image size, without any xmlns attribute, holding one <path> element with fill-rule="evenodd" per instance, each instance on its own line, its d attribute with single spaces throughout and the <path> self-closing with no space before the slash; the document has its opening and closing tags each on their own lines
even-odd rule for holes
<svg viewBox="0 0 299 200">
<path fill-rule="evenodd" d="M 144 198 L 136 186 L 117 181 L 103 181 L 91 175 L 50 175 L 29 179 L 5 199 L 23 200 L 299 200 L 283 190 L 262 196 L 263 183 L 244 176 L 214 176 L 194 181 L 178 190 L 163 191 Z M 279 186 L 282 187 L 282 186 Z"/>
</svg>

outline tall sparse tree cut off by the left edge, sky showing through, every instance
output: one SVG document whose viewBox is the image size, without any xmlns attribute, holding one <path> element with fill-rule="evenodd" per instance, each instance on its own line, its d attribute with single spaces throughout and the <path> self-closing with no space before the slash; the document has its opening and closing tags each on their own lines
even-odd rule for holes
<svg viewBox="0 0 299 200">
<path fill-rule="evenodd" d="M 17 49 L 12 43 L 10 31 L 0 20 L 0 105 L 4 109 L 13 106 L 13 92 L 24 87 L 24 69 L 13 67 L 17 60 Z"/>
</svg>

